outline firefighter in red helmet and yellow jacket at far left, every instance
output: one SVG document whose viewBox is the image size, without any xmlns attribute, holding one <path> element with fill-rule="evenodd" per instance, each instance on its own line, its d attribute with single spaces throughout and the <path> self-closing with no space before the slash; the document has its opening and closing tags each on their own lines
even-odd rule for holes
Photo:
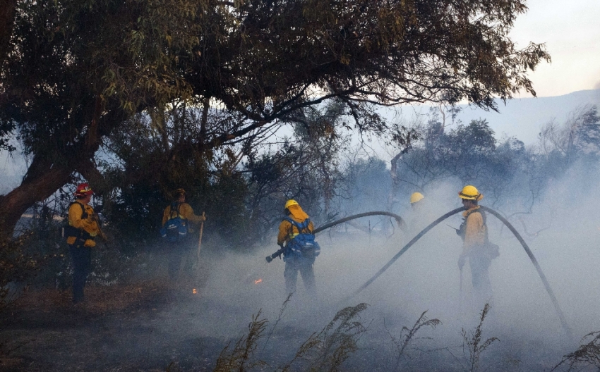
<svg viewBox="0 0 600 372">
<path fill-rule="evenodd" d="M 83 301 L 83 287 L 92 267 L 92 247 L 95 237 L 102 235 L 99 220 L 90 200 L 94 192 L 88 183 L 81 183 L 75 192 L 75 202 L 68 206 L 67 244 L 73 263 L 73 304 Z"/>
</svg>

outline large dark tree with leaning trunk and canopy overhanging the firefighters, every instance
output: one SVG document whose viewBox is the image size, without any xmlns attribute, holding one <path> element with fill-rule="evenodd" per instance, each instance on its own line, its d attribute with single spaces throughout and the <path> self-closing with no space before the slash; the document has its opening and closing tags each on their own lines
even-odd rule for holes
<svg viewBox="0 0 600 372">
<path fill-rule="evenodd" d="M 133 114 L 175 101 L 227 114 L 200 123 L 203 151 L 334 97 L 359 132 L 381 132 L 372 104 L 494 109 L 493 97 L 534 94 L 527 72 L 549 56 L 508 37 L 526 10 L 522 0 L 18 0 L 0 60 L 0 135 L 14 128 L 32 162 L 0 197 L 0 230 L 73 172 L 95 177 L 95 151 Z"/>
</svg>

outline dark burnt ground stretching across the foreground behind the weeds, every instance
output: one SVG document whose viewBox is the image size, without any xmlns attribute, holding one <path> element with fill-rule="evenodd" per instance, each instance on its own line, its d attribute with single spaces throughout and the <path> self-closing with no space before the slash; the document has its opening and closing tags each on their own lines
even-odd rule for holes
<svg viewBox="0 0 600 372">
<path fill-rule="evenodd" d="M 274 328 L 282 302 L 276 299 L 268 303 L 261 295 L 268 297 L 265 293 L 282 287 L 281 265 L 257 264 L 264 282 L 254 285 L 258 278 L 254 271 L 234 275 L 232 268 L 238 266 L 225 262 L 226 266 L 207 268 L 212 280 L 203 278 L 196 283 L 170 284 L 166 273 L 152 266 L 148 272 L 155 273 L 152 278 L 157 279 L 128 285 L 89 285 L 85 303 L 77 306 L 71 304 L 68 290 L 28 290 L 0 313 L 0 372 L 213 371 L 220 352 L 239 340 L 258 309 L 265 309 L 263 316 L 270 321 L 266 333 L 275 331 L 268 340 L 261 340 L 254 358 L 267 364 L 251 370 L 277 371 L 336 311 L 359 301 L 342 305 L 330 299 L 325 301 L 330 306 L 308 306 L 304 312 L 297 311 L 299 304 L 294 302 L 286 318 Z M 222 285 L 220 280 L 224 279 L 219 274 L 227 279 L 227 285 Z M 198 287 L 197 294 L 192 293 L 193 287 Z M 226 293 L 226 287 L 243 290 Z M 378 306 L 378 298 L 384 294 L 373 292 L 364 298 L 371 303 L 361 319 L 368 331 L 342 371 L 469 371 L 460 329 L 449 330 L 451 322 L 443 316 L 438 328 L 419 331 L 401 363 L 396 364 L 390 333 L 400 337 L 402 327 L 410 328 L 416 318 L 403 309 Z M 432 311 L 428 316 L 439 315 Z M 529 337 L 504 326 L 493 329 L 492 324 L 492 319 L 486 323 L 484 340 L 494 336 L 500 341 L 483 353 L 480 371 L 550 371 L 561 356 L 577 347 L 552 346 L 559 334 Z M 472 329 L 471 325 L 467 328 Z M 294 371 L 303 370 L 306 368 L 300 365 L 294 367 Z"/>
</svg>

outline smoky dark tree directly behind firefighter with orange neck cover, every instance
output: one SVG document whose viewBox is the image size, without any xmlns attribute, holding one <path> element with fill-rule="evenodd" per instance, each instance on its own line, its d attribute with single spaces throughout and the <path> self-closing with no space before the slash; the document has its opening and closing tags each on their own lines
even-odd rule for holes
<svg viewBox="0 0 600 372">
<path fill-rule="evenodd" d="M 341 134 L 347 116 L 347 108 L 335 100 L 305 108 L 290 118 L 294 133 L 275 151 L 256 147 L 248 153 L 243 172 L 259 237 L 281 221 L 287 199 L 297 199 L 315 223 L 335 215 L 331 202 L 342 180 L 338 159 L 348 141 Z"/>
</svg>

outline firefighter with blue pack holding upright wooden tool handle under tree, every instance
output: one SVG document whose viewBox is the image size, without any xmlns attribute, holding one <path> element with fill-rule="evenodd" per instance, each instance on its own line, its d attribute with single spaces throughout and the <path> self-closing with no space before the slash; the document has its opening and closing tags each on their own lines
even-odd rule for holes
<svg viewBox="0 0 600 372">
<path fill-rule="evenodd" d="M 201 223 L 206 221 L 205 216 L 196 216 L 193 213 L 192 207 L 186 203 L 186 190 L 177 189 L 174 192 L 174 201 L 164 209 L 162 213 L 162 226 L 169 221 L 169 219 L 179 216 L 184 223 L 186 223 L 187 233 L 185 237 L 177 240 L 176 242 L 169 242 L 169 278 L 175 281 L 179 278 L 179 271 L 181 268 L 181 261 L 184 256 L 188 256 L 191 259 L 191 249 L 196 247 L 194 241 L 190 238 L 190 234 L 193 230 L 188 227 L 188 222 Z M 191 262 L 187 265 L 188 269 L 191 269 Z"/>
</svg>

